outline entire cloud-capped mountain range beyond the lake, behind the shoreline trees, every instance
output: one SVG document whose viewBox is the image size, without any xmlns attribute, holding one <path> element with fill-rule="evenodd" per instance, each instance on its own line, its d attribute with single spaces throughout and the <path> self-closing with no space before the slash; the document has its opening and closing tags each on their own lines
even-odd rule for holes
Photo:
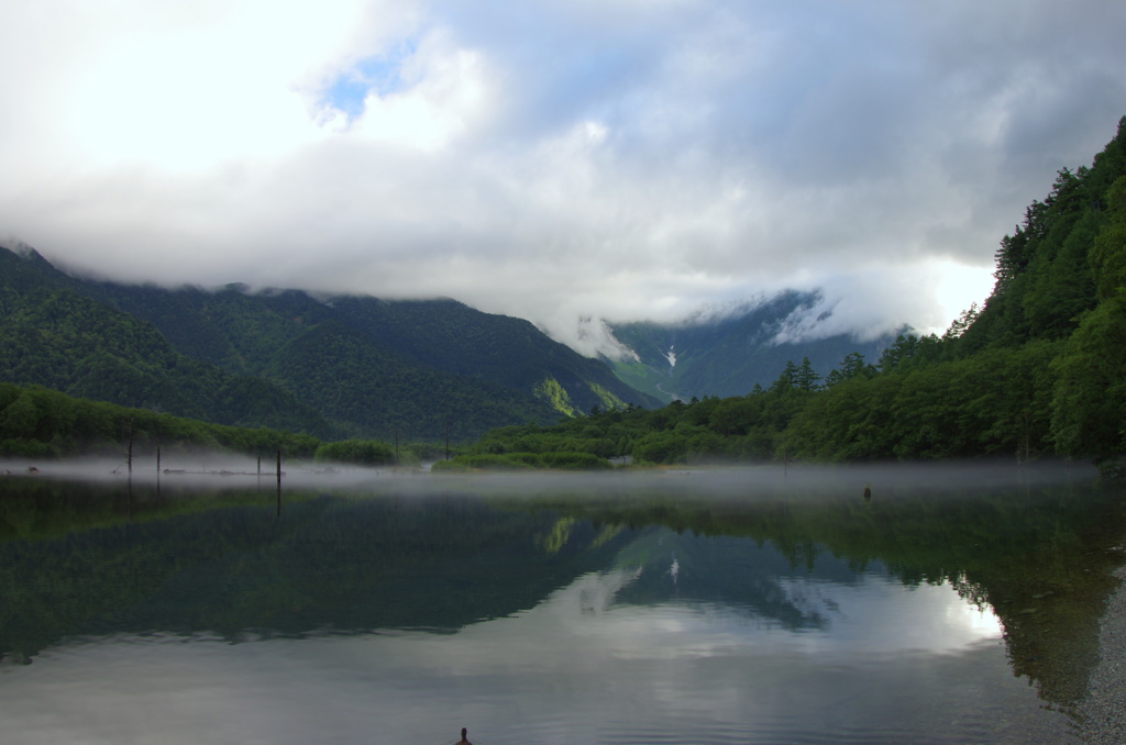
<svg viewBox="0 0 1126 745">
<path fill-rule="evenodd" d="M 126 285 L 0 248 L 0 380 L 220 424 L 324 439 L 464 441 L 595 407 L 729 396 L 808 357 L 824 374 L 886 340 L 775 343 L 815 295 L 723 318 L 611 327 L 625 360 L 583 357 L 530 322 L 454 299 Z"/>
</svg>

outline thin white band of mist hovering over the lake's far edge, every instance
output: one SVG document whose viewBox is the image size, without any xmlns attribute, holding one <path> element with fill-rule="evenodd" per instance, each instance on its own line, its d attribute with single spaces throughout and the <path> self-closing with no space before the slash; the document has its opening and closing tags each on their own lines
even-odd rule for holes
<svg viewBox="0 0 1126 745">
<path fill-rule="evenodd" d="M 162 478 L 191 487 L 215 488 L 247 485 L 245 476 L 271 477 L 276 481 L 275 455 L 258 459 L 229 452 L 193 452 L 164 455 L 159 464 L 153 456 L 135 458 L 132 467 L 126 458 L 75 458 L 69 460 L 0 460 L 0 473 L 25 476 L 35 469 L 36 476 L 68 481 L 122 482 L 146 484 Z M 364 467 L 352 464 L 322 463 L 309 459 L 283 459 L 283 484 L 293 488 L 340 488 L 365 491 L 373 486 L 415 484 L 420 491 L 444 492 L 452 485 L 473 490 L 500 488 L 506 492 L 538 493 L 598 488 L 680 488 L 690 485 L 700 495 L 769 496 L 797 494 L 850 494 L 887 488 L 893 493 L 935 492 L 947 496 L 980 488 L 1004 486 L 1051 486 L 1098 478 L 1098 470 L 1088 463 L 1042 460 L 1018 464 L 1011 459 L 977 459 L 965 461 L 919 461 L 781 466 L 715 466 L 632 469 L 614 472 L 535 472 L 535 473 L 429 473 L 429 467 Z M 419 481 L 420 477 L 430 481 Z M 224 478 L 232 477 L 232 478 Z M 685 482 L 682 479 L 692 481 Z"/>
</svg>

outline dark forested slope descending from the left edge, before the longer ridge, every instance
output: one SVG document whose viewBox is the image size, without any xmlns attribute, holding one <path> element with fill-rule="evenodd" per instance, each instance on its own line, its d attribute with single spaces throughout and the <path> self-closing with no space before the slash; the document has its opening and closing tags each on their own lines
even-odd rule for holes
<svg viewBox="0 0 1126 745">
<path fill-rule="evenodd" d="M 0 380 L 220 424 L 331 432 L 292 393 L 180 354 L 151 324 L 73 287 L 37 254 L 0 250 Z"/>
</svg>

